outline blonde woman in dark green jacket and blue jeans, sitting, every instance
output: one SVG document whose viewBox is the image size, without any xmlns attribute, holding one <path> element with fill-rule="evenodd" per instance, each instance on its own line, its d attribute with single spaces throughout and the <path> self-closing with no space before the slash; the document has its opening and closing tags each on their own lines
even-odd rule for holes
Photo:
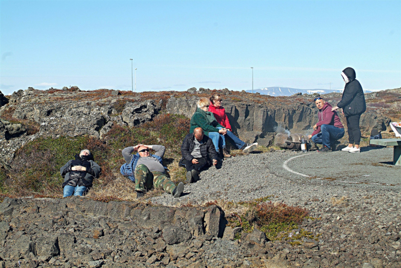
<svg viewBox="0 0 401 268">
<path fill-rule="evenodd" d="M 189 133 L 193 133 L 193 130 L 197 127 L 202 128 L 205 131 L 205 135 L 212 139 L 216 152 L 219 153 L 220 134 L 225 135 L 227 130 L 216 121 L 213 113 L 209 112 L 210 101 L 208 98 L 200 98 L 196 105 L 196 112 L 192 115 L 190 121 Z M 220 143 L 223 144 L 223 141 L 220 141 Z"/>
</svg>

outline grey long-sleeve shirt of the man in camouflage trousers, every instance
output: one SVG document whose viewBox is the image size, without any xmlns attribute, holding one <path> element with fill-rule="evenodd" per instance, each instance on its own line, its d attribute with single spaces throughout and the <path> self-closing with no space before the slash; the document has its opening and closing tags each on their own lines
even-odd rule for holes
<svg viewBox="0 0 401 268">
<path fill-rule="evenodd" d="M 166 148 L 162 145 L 152 145 L 152 149 L 155 151 L 154 155 L 163 157 L 164 151 Z M 129 164 L 131 162 L 133 152 L 134 152 L 134 147 L 132 147 L 132 146 L 124 148 L 122 150 L 122 155 L 125 159 L 125 162 L 127 162 L 127 164 Z M 160 164 L 160 162 L 152 156 L 140 157 L 138 159 L 138 161 L 136 162 L 136 165 L 140 165 L 140 164 L 147 166 L 149 171 L 159 171 L 159 172 L 165 173 L 165 169 L 164 169 L 163 165 Z M 135 168 L 136 168 L 136 166 L 134 167 L 134 169 Z"/>
</svg>

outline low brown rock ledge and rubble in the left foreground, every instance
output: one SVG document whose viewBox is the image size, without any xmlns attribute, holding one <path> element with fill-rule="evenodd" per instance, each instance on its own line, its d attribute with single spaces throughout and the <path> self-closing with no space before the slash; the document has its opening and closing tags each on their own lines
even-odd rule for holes
<svg viewBox="0 0 401 268">
<path fill-rule="evenodd" d="M 224 214 L 216 206 L 175 208 L 81 197 L 6 198 L 0 204 L 0 264 L 167 265 L 181 258 L 182 250 L 184 255 L 195 255 L 205 242 L 222 237 L 225 227 Z"/>
</svg>

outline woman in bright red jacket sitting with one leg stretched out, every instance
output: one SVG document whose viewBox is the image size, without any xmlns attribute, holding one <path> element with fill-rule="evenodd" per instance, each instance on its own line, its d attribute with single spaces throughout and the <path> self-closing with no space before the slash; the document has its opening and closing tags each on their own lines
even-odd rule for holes
<svg viewBox="0 0 401 268">
<path fill-rule="evenodd" d="M 235 143 L 238 149 L 243 150 L 244 153 L 252 152 L 258 146 L 258 143 L 247 144 L 240 140 L 234 133 L 232 132 L 229 118 L 226 115 L 226 110 L 222 106 L 222 96 L 220 94 L 213 94 L 210 97 L 211 105 L 209 106 L 209 112 L 212 112 L 215 116 L 217 122 L 224 126 L 227 129 L 227 136 Z M 230 153 L 226 149 L 226 139 L 223 134 L 220 134 L 221 140 L 223 141 L 223 155 L 228 158 L 231 157 Z"/>
</svg>

